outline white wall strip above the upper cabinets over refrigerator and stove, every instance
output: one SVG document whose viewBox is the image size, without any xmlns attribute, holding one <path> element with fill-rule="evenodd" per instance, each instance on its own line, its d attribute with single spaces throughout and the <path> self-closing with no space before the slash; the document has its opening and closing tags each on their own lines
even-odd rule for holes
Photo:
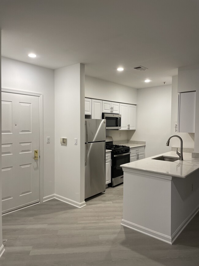
<svg viewBox="0 0 199 266">
<path fill-rule="evenodd" d="M 137 89 L 85 76 L 85 97 L 137 104 Z"/>
</svg>

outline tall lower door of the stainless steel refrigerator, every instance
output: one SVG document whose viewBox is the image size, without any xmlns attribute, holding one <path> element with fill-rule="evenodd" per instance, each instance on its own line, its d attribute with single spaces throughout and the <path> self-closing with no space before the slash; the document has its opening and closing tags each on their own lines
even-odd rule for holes
<svg viewBox="0 0 199 266">
<path fill-rule="evenodd" d="M 105 141 L 88 143 L 85 166 L 85 199 L 105 191 Z"/>
</svg>

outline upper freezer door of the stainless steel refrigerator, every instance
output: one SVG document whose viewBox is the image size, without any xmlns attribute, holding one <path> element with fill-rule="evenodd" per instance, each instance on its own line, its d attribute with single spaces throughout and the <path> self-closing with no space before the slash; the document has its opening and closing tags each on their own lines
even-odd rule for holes
<svg viewBox="0 0 199 266">
<path fill-rule="evenodd" d="M 106 141 L 106 119 L 85 119 L 85 142 Z"/>
</svg>

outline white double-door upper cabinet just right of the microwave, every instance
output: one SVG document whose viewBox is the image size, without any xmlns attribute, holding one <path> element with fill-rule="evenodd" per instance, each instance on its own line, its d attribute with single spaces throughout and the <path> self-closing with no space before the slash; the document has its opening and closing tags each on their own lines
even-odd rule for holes
<svg viewBox="0 0 199 266">
<path fill-rule="evenodd" d="M 136 105 L 120 103 L 121 129 L 136 129 Z"/>
</svg>

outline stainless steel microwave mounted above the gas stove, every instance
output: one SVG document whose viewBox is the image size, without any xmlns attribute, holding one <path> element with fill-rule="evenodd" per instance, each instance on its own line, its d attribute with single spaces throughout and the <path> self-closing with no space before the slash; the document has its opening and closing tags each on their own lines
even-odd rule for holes
<svg viewBox="0 0 199 266">
<path fill-rule="evenodd" d="M 102 113 L 102 119 L 106 119 L 106 129 L 121 128 L 121 114 Z"/>
</svg>

